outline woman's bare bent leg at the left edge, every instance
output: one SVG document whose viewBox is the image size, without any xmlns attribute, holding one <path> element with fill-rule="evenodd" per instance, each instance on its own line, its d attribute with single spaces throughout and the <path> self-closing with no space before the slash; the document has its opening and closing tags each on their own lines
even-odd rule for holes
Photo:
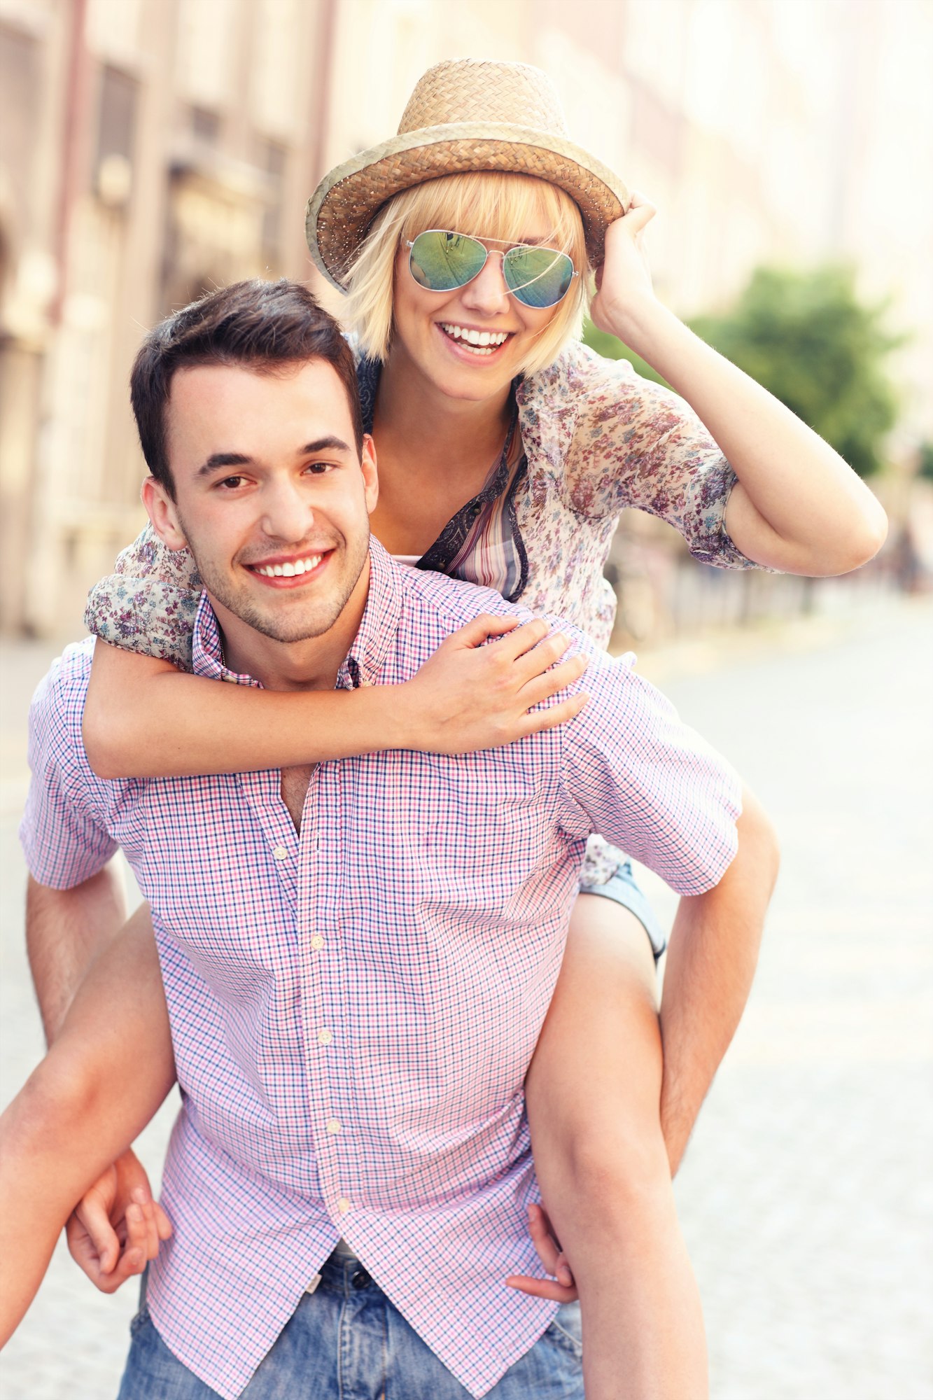
<svg viewBox="0 0 933 1400">
<path fill-rule="evenodd" d="M 175 1081 L 148 910 L 88 969 L 62 1030 L 0 1117 L 0 1345 L 32 1302 L 76 1201 Z"/>
</svg>

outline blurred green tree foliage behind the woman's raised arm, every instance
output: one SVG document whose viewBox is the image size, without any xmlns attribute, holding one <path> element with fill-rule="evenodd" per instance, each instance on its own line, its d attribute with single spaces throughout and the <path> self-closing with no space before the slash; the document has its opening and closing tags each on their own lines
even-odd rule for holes
<svg viewBox="0 0 933 1400">
<path fill-rule="evenodd" d="M 885 361 L 904 337 L 884 328 L 885 312 L 859 301 L 849 267 L 759 267 L 730 311 L 691 326 L 870 476 L 898 409 Z M 584 340 L 658 379 L 612 336 L 588 326 Z"/>
</svg>

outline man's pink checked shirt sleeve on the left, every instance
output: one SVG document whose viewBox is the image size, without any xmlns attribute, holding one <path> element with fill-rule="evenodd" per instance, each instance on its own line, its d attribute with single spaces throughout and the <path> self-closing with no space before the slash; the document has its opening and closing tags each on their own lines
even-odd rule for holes
<svg viewBox="0 0 933 1400">
<path fill-rule="evenodd" d="M 77 651 L 77 648 L 76 648 Z M 81 762 L 81 711 L 90 658 L 60 658 L 29 708 L 29 794 L 20 841 L 29 874 L 52 889 L 97 875 L 116 851 Z"/>
</svg>

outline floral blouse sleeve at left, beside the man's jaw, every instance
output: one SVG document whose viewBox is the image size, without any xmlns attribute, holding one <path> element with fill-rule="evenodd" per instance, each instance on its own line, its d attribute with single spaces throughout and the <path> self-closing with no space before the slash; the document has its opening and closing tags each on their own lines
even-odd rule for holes
<svg viewBox="0 0 933 1400">
<path fill-rule="evenodd" d="M 172 550 L 147 525 L 87 599 L 88 631 L 144 657 L 192 669 L 192 634 L 202 582 L 186 549 Z"/>
</svg>

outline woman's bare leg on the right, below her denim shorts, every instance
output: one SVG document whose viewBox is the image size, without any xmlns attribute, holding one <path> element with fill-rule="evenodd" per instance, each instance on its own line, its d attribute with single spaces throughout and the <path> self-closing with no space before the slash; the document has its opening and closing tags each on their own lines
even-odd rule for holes
<svg viewBox="0 0 933 1400">
<path fill-rule="evenodd" d="M 699 1292 L 661 1135 L 654 958 L 614 900 L 577 899 L 527 1098 L 545 1207 L 580 1294 L 587 1400 L 705 1400 Z"/>
</svg>

